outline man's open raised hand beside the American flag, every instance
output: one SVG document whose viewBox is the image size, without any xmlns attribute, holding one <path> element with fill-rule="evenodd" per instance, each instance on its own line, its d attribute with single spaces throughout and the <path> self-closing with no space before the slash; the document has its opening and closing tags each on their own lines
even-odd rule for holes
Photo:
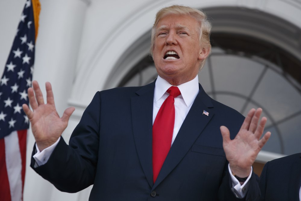
<svg viewBox="0 0 301 201">
<path fill-rule="evenodd" d="M 23 104 L 23 110 L 28 116 L 33 136 L 40 151 L 54 144 L 66 129 L 69 117 L 75 110 L 69 107 L 60 118 L 55 109 L 51 84 L 46 82 L 47 103 L 44 103 L 43 94 L 37 81 L 32 82 L 33 88 L 28 89 L 28 98 L 31 111 L 27 104 Z M 35 94 L 36 96 L 35 96 Z"/>
</svg>

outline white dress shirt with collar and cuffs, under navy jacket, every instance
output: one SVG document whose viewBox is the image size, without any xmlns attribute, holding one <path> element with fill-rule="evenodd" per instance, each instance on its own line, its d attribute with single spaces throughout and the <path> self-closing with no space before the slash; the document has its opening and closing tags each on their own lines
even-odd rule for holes
<svg viewBox="0 0 301 201">
<path fill-rule="evenodd" d="M 165 99 L 169 96 L 169 94 L 166 92 L 168 88 L 170 88 L 172 85 L 169 84 L 166 80 L 158 76 L 156 83 L 155 83 L 155 91 L 154 91 L 154 105 L 153 105 L 153 120 L 152 123 L 154 123 L 155 118 L 157 116 L 157 113 L 165 101 Z M 177 133 L 180 130 L 180 127 L 182 126 L 182 123 L 184 119 L 186 118 L 194 99 L 196 98 L 197 94 L 199 93 L 199 78 L 198 75 L 186 83 L 183 83 L 181 85 L 177 86 L 181 92 L 181 94 L 178 97 L 174 98 L 174 108 L 175 108 L 175 120 L 174 120 L 174 132 L 172 135 L 171 145 L 174 142 L 174 139 L 177 136 Z M 52 151 L 54 150 L 55 146 L 58 144 L 58 141 L 60 138 L 55 142 L 53 145 L 51 145 L 48 148 L 45 148 L 42 150 L 42 152 L 39 151 L 38 146 L 36 145 L 37 153 L 33 155 L 33 158 L 36 161 L 37 166 L 45 164 Z M 235 193 L 235 195 L 239 198 L 243 198 L 246 196 L 247 189 L 249 188 L 249 179 L 251 177 L 251 173 L 249 174 L 249 177 L 247 178 L 246 182 L 243 183 L 243 185 L 240 185 L 240 182 L 233 176 L 230 166 L 228 166 L 230 176 L 232 179 L 233 187 L 231 188 L 232 191 Z"/>
</svg>

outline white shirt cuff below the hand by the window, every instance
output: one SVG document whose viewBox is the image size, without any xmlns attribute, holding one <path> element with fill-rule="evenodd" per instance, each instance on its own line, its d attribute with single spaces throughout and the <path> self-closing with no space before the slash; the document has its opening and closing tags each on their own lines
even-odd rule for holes
<svg viewBox="0 0 301 201">
<path fill-rule="evenodd" d="M 244 198 L 249 190 L 249 186 L 250 186 L 249 180 L 251 178 L 253 168 L 251 167 L 251 172 L 249 174 L 249 177 L 246 179 L 243 185 L 241 185 L 240 182 L 237 180 L 237 178 L 235 178 L 234 175 L 232 174 L 232 171 L 230 169 L 230 164 L 228 164 L 228 169 L 232 180 L 231 190 L 233 191 L 233 193 L 236 195 L 237 198 Z"/>
</svg>

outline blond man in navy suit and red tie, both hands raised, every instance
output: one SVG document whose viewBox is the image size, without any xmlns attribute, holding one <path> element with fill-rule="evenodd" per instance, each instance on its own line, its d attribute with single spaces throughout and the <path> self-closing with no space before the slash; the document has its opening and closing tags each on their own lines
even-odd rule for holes
<svg viewBox="0 0 301 201">
<path fill-rule="evenodd" d="M 34 170 L 66 192 L 94 184 L 89 200 L 259 199 L 251 166 L 271 133 L 260 139 L 261 109 L 243 121 L 199 85 L 210 28 L 199 10 L 161 9 L 151 45 L 157 80 L 97 92 L 69 146 L 60 136 L 74 108 L 59 118 L 50 83 L 44 104 L 34 81 L 28 90 L 33 111 L 23 106 L 36 139 Z"/>
</svg>

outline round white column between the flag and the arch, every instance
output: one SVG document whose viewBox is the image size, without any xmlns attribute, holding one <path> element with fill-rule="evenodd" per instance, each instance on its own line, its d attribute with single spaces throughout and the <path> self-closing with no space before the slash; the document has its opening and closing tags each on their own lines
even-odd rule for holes
<svg viewBox="0 0 301 201">
<path fill-rule="evenodd" d="M 88 3 L 82 0 L 40 0 L 40 2 L 33 80 L 39 82 L 44 97 L 45 82 L 51 82 L 56 109 L 61 116 L 70 96 Z M 34 138 L 30 132 L 27 143 L 24 201 L 76 200 L 77 194 L 58 191 L 29 167 L 33 145 Z"/>
</svg>

